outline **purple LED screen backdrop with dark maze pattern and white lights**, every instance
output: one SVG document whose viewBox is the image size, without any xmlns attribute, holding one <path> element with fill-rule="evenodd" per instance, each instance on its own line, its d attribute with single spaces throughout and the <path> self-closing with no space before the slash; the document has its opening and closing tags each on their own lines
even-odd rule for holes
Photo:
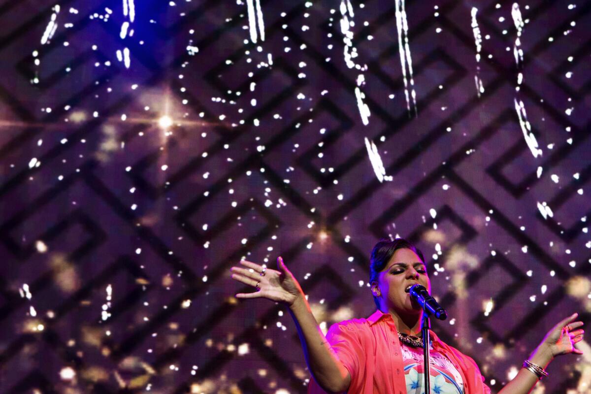
<svg viewBox="0 0 591 394">
<path fill-rule="evenodd" d="M 423 250 L 437 333 L 494 392 L 589 324 L 591 2 L 0 4 L 0 392 L 304 393 L 287 310 L 374 311 Z M 536 393 L 589 390 L 589 347 Z M 586 386 L 587 385 L 587 386 Z M 539 391 L 538 391 L 539 390 Z"/>
</svg>

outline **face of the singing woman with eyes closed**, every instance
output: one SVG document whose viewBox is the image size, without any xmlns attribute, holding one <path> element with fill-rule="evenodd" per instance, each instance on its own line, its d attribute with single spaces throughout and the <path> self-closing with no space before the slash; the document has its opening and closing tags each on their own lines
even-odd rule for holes
<svg viewBox="0 0 591 394">
<path fill-rule="evenodd" d="M 378 281 L 372 284 L 372 292 L 378 292 L 382 307 L 398 315 L 415 314 L 422 309 L 411 301 L 406 290 L 414 284 L 425 286 L 431 294 L 431 281 L 427 269 L 413 250 L 398 249 L 385 268 L 379 273 Z"/>
</svg>

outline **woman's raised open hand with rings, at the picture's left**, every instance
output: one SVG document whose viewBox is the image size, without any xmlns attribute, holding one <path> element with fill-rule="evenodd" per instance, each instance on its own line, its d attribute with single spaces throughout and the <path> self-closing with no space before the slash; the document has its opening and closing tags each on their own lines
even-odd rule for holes
<svg viewBox="0 0 591 394">
<path fill-rule="evenodd" d="M 279 271 L 250 261 L 240 263 L 243 267 L 230 268 L 231 278 L 256 288 L 256 292 L 239 293 L 236 298 L 267 298 L 291 306 L 298 297 L 304 297 L 300 284 L 281 257 L 277 258 Z"/>
</svg>

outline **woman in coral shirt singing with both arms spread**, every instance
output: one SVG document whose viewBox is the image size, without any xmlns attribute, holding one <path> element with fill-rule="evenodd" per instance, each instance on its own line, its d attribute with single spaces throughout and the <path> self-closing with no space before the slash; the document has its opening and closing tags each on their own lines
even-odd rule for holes
<svg viewBox="0 0 591 394">
<path fill-rule="evenodd" d="M 430 298 L 431 282 L 423 253 L 404 239 L 382 240 L 371 253 L 369 283 L 377 310 L 368 318 L 333 324 L 326 337 L 310 311 L 296 278 L 281 258 L 278 270 L 242 261 L 232 278 L 256 292 L 238 298 L 268 298 L 285 304 L 293 317 L 312 377 L 309 393 L 423 394 L 421 302 L 444 310 Z M 251 271 L 252 270 L 252 271 Z M 420 286 L 426 289 L 424 292 Z M 423 295 L 413 295 L 423 291 Z M 428 293 L 428 294 L 427 294 Z M 441 312 L 443 311 L 443 312 Z M 561 354 L 582 354 L 574 344 L 583 338 L 582 321 L 570 315 L 555 325 L 500 391 L 527 394 L 545 368 Z M 473 359 L 430 333 L 430 387 L 433 394 L 488 394 L 491 389 Z"/>
</svg>

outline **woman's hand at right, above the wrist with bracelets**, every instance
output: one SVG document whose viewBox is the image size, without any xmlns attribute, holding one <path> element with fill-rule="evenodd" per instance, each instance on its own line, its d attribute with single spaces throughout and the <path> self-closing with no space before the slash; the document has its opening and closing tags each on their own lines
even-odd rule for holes
<svg viewBox="0 0 591 394">
<path fill-rule="evenodd" d="M 583 340 L 584 330 L 582 321 L 574 321 L 579 314 L 575 313 L 560 321 L 555 325 L 540 344 L 540 348 L 545 348 L 551 357 L 560 356 L 560 354 L 583 354 L 582 351 L 574 347 L 574 344 Z"/>
</svg>

